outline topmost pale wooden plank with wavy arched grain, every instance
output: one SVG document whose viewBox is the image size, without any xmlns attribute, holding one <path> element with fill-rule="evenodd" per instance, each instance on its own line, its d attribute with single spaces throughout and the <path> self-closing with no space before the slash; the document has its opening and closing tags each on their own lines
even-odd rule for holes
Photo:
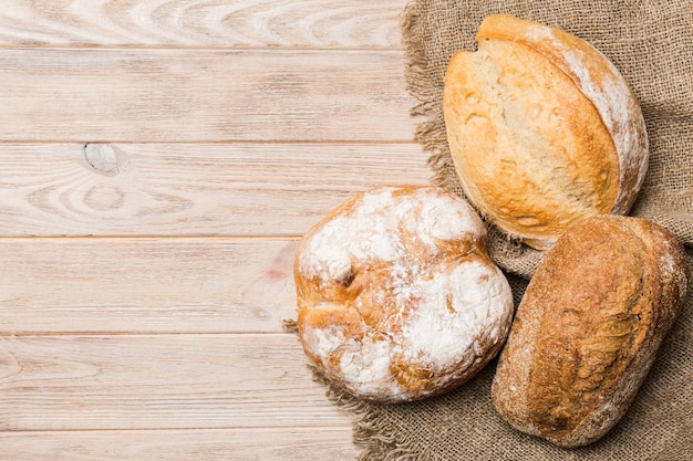
<svg viewBox="0 0 693 461">
<path fill-rule="evenodd" d="M 4 0 L 0 44 L 400 46 L 405 0 Z"/>
</svg>

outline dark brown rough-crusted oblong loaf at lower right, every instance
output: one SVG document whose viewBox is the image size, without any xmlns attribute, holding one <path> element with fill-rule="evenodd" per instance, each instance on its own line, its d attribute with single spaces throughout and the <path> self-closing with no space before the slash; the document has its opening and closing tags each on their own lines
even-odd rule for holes
<svg viewBox="0 0 693 461">
<path fill-rule="evenodd" d="M 499 415 L 558 446 L 601 438 L 642 384 L 686 292 L 681 244 L 602 216 L 566 232 L 518 307 L 492 386 Z"/>
</svg>

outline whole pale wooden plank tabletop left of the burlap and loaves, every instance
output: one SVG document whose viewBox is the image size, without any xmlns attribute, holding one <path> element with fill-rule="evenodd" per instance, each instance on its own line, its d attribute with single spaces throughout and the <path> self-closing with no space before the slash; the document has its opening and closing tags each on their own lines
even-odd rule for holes
<svg viewBox="0 0 693 461">
<path fill-rule="evenodd" d="M 406 0 L 0 1 L 0 459 L 348 460 L 300 235 L 427 184 Z"/>
</svg>

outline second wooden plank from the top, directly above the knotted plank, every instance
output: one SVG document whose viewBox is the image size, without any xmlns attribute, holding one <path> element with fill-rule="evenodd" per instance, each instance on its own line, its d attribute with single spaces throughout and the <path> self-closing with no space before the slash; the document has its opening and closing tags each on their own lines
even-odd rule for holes
<svg viewBox="0 0 693 461">
<path fill-rule="evenodd" d="M 0 140 L 411 142 L 403 51 L 0 50 Z"/>
</svg>

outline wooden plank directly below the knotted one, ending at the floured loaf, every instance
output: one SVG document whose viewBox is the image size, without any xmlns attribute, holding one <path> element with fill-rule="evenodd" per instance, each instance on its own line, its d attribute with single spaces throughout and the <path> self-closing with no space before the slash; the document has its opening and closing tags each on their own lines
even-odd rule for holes
<svg viewBox="0 0 693 461">
<path fill-rule="evenodd" d="M 282 332 L 292 240 L 2 239 L 0 332 Z"/>
</svg>

